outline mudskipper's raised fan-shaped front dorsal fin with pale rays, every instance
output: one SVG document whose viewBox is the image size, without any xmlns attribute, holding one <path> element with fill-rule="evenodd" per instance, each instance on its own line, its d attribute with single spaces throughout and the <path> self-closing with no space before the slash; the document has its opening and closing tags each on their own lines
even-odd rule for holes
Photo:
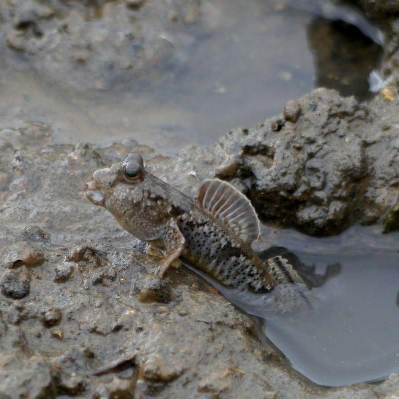
<svg viewBox="0 0 399 399">
<path fill-rule="evenodd" d="M 219 179 L 204 180 L 198 190 L 200 206 L 219 219 L 243 241 L 251 243 L 260 233 L 251 202 L 236 188 Z"/>
</svg>

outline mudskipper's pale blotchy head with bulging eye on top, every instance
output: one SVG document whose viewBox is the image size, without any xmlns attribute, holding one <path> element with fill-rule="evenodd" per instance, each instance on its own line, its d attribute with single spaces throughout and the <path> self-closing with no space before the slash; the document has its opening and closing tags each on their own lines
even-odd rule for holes
<svg viewBox="0 0 399 399">
<path fill-rule="evenodd" d="M 86 183 L 86 197 L 118 219 L 142 200 L 145 178 L 143 158 L 131 153 L 123 162 L 95 171 Z"/>
</svg>

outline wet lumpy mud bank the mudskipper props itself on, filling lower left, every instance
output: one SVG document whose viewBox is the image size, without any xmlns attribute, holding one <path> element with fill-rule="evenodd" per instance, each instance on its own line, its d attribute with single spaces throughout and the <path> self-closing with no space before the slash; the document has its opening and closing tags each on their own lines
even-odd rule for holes
<svg viewBox="0 0 399 399">
<path fill-rule="evenodd" d="M 184 267 L 160 283 L 149 276 L 157 258 L 83 194 L 93 170 L 138 148 L 49 143 L 38 153 L 26 149 L 29 135 L 21 140 L 18 150 L 1 147 L 0 273 L 2 286 L 5 279 L 20 292 L 29 281 L 30 290 L 1 290 L 1 397 L 377 398 L 398 391 L 396 376 L 373 386 L 316 387 L 199 276 Z M 201 164 L 191 154 L 169 163 L 168 178 L 194 192 L 187 167 Z M 221 163 L 208 156 L 209 170 L 217 169 Z M 147 158 L 162 173 L 164 159 Z M 9 269 L 13 245 L 34 246 L 45 260 Z"/>
</svg>

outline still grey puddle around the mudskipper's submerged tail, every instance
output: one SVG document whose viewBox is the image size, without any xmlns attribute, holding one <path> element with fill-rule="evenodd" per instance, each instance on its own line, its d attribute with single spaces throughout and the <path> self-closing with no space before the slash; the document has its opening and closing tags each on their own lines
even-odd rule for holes
<svg viewBox="0 0 399 399">
<path fill-rule="evenodd" d="M 263 245 L 270 229 L 264 231 Z M 280 285 L 270 294 L 248 294 L 199 274 L 263 319 L 264 335 L 316 384 L 344 386 L 398 372 L 399 234 L 383 235 L 379 226 L 327 238 L 271 232 L 274 246 L 263 248 L 262 258 L 285 256 L 311 289 Z"/>
</svg>

